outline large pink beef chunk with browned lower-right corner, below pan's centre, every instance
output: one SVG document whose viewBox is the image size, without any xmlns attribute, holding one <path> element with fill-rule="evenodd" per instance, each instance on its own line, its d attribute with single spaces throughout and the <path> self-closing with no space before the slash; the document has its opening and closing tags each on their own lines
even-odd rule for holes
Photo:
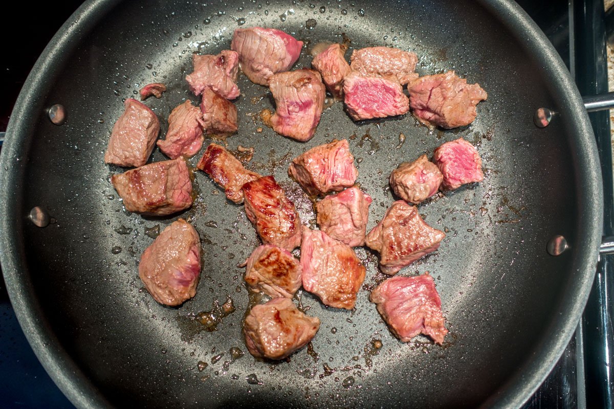
<svg viewBox="0 0 614 409">
<path fill-rule="evenodd" d="M 325 305 L 351 310 L 365 280 L 365 266 L 351 247 L 323 231 L 303 227 L 303 288 Z"/>
</svg>

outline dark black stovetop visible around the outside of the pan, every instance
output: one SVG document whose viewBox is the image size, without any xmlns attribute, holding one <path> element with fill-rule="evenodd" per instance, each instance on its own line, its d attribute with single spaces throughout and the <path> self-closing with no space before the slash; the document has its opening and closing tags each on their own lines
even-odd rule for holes
<svg viewBox="0 0 614 409">
<path fill-rule="evenodd" d="M 518 3 L 558 50 L 572 75 L 577 78 L 581 93 L 591 95 L 607 91 L 602 0 L 518 0 Z M 43 2 L 36 6 L 36 13 L 29 12 L 31 4 L 28 2 L 13 4 L 17 10 L 12 15 L 28 15 L 30 28 L 21 26 L 15 29 L 12 34 L 14 39 L 4 42 L 4 55 L 11 58 L 5 58 L 0 63 L 0 84 L 4 91 L 0 99 L 0 132 L 6 130 L 12 105 L 29 69 L 53 34 L 80 4 L 81 1 L 75 0 Z M 12 15 L 7 17 L 12 18 Z M 582 67 L 581 72 L 577 67 Z M 612 235 L 614 200 L 609 115 L 607 112 L 591 113 L 591 122 L 604 163 L 604 235 Z M 611 313 L 607 293 L 611 284 L 607 278 L 613 266 L 614 258 L 602 258 L 596 285 L 578 331 L 553 371 L 523 409 L 612 407 L 613 386 L 608 366 L 612 330 L 607 327 Z M 609 330 L 606 334 L 602 332 L 604 325 Z M 73 408 L 34 356 L 17 323 L 2 280 L 0 378 L 1 408 Z"/>
</svg>

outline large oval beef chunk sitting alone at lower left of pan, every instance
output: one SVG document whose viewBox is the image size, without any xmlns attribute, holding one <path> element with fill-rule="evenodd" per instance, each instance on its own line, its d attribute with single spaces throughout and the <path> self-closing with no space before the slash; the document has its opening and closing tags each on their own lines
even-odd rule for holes
<svg viewBox="0 0 614 409">
<path fill-rule="evenodd" d="M 139 277 L 157 302 L 180 305 L 196 295 L 200 252 L 198 232 L 183 219 L 166 227 L 145 249 Z"/>
</svg>

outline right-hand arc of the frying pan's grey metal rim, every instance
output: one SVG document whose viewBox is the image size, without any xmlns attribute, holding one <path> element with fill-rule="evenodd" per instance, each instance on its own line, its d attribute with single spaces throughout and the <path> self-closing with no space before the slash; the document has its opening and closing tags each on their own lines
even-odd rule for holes
<svg viewBox="0 0 614 409">
<path fill-rule="evenodd" d="M 600 174 L 599 154 L 593 133 L 593 127 L 582 102 L 580 91 L 573 81 L 567 66 L 554 49 L 548 37 L 516 3 L 505 0 L 480 0 L 480 4 L 500 18 L 505 28 L 516 34 L 521 46 L 532 54 L 538 63 L 550 73 L 551 83 L 556 84 L 559 95 L 556 101 L 567 105 L 568 123 L 577 126 L 576 137 L 570 140 L 570 149 L 575 169 L 575 186 L 581 186 L 585 195 L 578 199 L 578 237 L 588 237 L 584 247 L 578 251 L 577 259 L 570 269 L 577 269 L 578 274 L 570 280 L 577 281 L 565 299 L 572 300 L 563 306 L 558 319 L 554 321 L 552 331 L 547 339 L 542 339 L 540 347 L 534 347 L 532 359 L 524 365 L 523 370 L 516 371 L 510 380 L 500 386 L 482 407 L 520 407 L 537 391 L 540 384 L 553 370 L 565 348 L 569 344 L 578 324 L 588 296 L 593 286 L 599 259 L 599 247 L 603 229 L 603 182 Z M 523 36 L 518 36 L 522 33 Z M 582 231 L 584 229 L 584 231 Z M 568 287 L 569 288 L 569 287 Z M 575 296 L 573 293 L 575 292 Z M 568 317 L 562 319 L 561 317 Z M 572 317 L 573 319 L 569 319 Z M 541 363 L 540 363 L 541 362 Z"/>
</svg>

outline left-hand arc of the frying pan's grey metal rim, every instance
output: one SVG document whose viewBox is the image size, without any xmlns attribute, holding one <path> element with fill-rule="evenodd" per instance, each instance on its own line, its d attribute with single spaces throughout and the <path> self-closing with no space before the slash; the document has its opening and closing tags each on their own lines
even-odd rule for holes
<svg viewBox="0 0 614 409">
<path fill-rule="evenodd" d="M 43 316 L 42 308 L 28 286 L 27 275 L 21 273 L 26 267 L 21 244 L 23 240 L 20 240 L 25 217 L 20 212 L 20 195 L 15 191 L 17 186 L 12 180 L 20 180 L 25 172 L 27 161 L 20 159 L 23 159 L 21 153 L 28 148 L 28 124 L 36 122 L 39 115 L 46 115 L 42 103 L 52 86 L 47 78 L 64 66 L 62 55 L 69 55 L 76 49 L 80 40 L 120 2 L 87 0 L 58 29 L 36 60 L 17 97 L 0 153 L 3 169 L 0 172 L 0 210 L 4 215 L 11 215 L 0 222 L 0 265 L 9 299 L 34 354 L 56 386 L 77 408 L 112 408 L 112 405 L 85 377 L 44 319 L 40 318 Z M 66 50 L 69 52 L 66 53 Z"/>
</svg>

